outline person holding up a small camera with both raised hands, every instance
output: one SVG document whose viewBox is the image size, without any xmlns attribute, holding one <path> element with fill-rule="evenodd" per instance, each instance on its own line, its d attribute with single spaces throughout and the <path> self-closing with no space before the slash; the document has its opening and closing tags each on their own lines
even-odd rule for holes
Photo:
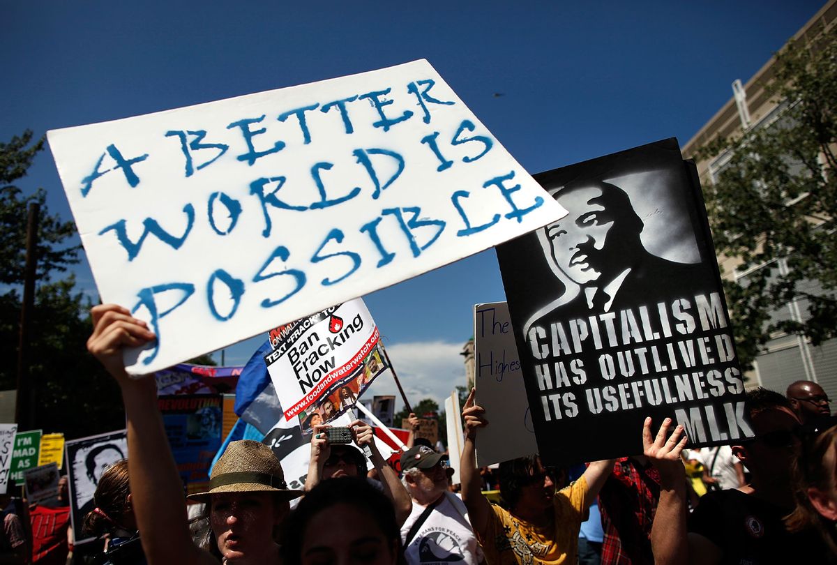
<svg viewBox="0 0 837 565">
<path fill-rule="evenodd" d="M 311 460 L 308 463 L 306 492 L 320 484 L 321 480 L 366 476 L 366 458 L 360 449 L 348 444 L 352 440 L 360 449 L 368 447 L 371 453 L 369 460 L 372 461 L 377 476 L 381 479 L 383 492 L 393 502 L 396 521 L 399 525 L 402 524 L 413 509 L 413 503 L 401 481 L 398 480 L 395 470 L 388 465 L 387 460 L 383 459 L 381 452 L 377 449 L 372 427 L 362 420 L 355 420 L 349 424 L 348 428 L 329 425 L 314 426 L 314 434 L 311 434 Z M 336 441 L 345 443 L 336 443 Z"/>
</svg>

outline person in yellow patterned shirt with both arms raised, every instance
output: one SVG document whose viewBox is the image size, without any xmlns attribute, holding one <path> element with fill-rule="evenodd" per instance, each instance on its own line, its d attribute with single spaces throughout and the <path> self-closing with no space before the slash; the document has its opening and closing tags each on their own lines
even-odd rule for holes
<svg viewBox="0 0 837 565">
<path fill-rule="evenodd" d="M 477 430 L 488 425 L 488 420 L 485 410 L 474 403 L 475 392 L 472 388 L 462 410 L 465 446 L 460 475 L 462 498 L 488 562 L 576 562 L 581 523 L 615 460 L 594 461 L 578 480 L 560 491 L 556 491 L 557 473 L 547 470 L 537 455 L 503 462 L 500 493 L 507 508 L 494 506 L 480 491 L 476 470 Z"/>
</svg>

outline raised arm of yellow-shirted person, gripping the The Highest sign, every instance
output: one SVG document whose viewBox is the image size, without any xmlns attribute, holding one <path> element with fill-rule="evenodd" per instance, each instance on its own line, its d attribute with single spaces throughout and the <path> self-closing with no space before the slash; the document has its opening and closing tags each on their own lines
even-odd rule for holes
<svg viewBox="0 0 837 565">
<path fill-rule="evenodd" d="M 476 468 L 476 431 L 485 428 L 488 420 L 485 419 L 485 410 L 474 403 L 475 388 L 471 388 L 465 407 L 462 408 L 462 417 L 465 419 L 465 444 L 462 448 L 460 458 L 460 480 L 462 480 L 462 501 L 468 508 L 468 516 L 471 526 L 480 537 L 485 538 L 485 529 L 488 526 L 488 519 L 491 515 L 491 503 L 482 494 L 482 480 L 480 471 Z"/>
</svg>

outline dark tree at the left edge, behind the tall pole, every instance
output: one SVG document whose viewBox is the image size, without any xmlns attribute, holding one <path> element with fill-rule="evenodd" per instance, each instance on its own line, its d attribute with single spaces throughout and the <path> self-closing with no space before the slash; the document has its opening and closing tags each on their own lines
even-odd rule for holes
<svg viewBox="0 0 837 565">
<path fill-rule="evenodd" d="M 29 203 L 40 204 L 37 281 L 32 313 L 28 378 L 38 399 L 36 423 L 45 432 L 64 432 L 72 439 L 119 429 L 125 414 L 119 390 L 85 352 L 90 335 L 90 300 L 63 274 L 78 262 L 79 246 L 70 243 L 72 222 L 49 213 L 45 193 L 26 196 L 13 183 L 22 178 L 44 140 L 32 141 L 31 131 L 0 143 L 0 388 L 17 385 L 18 321 L 26 218 Z"/>
</svg>

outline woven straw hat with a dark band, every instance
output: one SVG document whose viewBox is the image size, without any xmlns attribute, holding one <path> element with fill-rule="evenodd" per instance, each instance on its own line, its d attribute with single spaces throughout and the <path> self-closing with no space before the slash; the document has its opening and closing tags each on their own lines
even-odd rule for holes
<svg viewBox="0 0 837 565">
<path fill-rule="evenodd" d="M 209 490 L 188 498 L 206 502 L 209 495 L 223 492 L 281 492 L 287 500 L 303 495 L 288 488 L 270 447 L 252 439 L 230 442 L 209 475 Z"/>
</svg>

